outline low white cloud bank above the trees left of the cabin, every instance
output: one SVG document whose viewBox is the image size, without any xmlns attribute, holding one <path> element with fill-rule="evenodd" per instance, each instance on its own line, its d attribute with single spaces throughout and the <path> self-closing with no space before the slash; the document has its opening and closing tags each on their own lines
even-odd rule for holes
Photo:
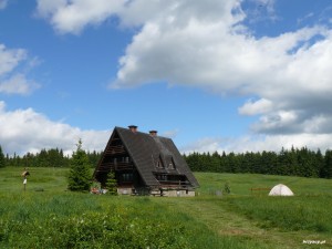
<svg viewBox="0 0 332 249">
<path fill-rule="evenodd" d="M 101 151 L 111 134 L 108 131 L 82 131 L 51 121 L 32 108 L 7 111 L 4 102 L 0 102 L 0 143 L 10 155 L 55 147 L 71 154 L 80 138 L 84 149 Z"/>
</svg>

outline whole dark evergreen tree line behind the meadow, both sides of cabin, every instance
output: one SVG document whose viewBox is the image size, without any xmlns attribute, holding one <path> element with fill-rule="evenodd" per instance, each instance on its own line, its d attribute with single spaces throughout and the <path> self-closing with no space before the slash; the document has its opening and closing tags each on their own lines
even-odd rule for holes
<svg viewBox="0 0 332 249">
<path fill-rule="evenodd" d="M 102 152 L 86 152 L 89 164 L 95 167 Z M 307 147 L 276 152 L 246 153 L 191 153 L 184 155 L 193 172 L 251 173 L 302 177 L 332 178 L 332 151 L 324 154 Z M 64 155 L 62 149 L 42 149 L 40 153 L 27 153 L 23 156 L 3 155 L 0 145 L 0 167 L 70 167 L 73 157 Z"/>
</svg>

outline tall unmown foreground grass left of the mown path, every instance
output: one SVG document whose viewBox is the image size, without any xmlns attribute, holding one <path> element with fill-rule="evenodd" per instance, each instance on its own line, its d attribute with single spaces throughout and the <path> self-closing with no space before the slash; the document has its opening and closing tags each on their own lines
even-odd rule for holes
<svg viewBox="0 0 332 249">
<path fill-rule="evenodd" d="M 147 197 L 1 193 L 0 248 L 243 248 Z"/>
</svg>

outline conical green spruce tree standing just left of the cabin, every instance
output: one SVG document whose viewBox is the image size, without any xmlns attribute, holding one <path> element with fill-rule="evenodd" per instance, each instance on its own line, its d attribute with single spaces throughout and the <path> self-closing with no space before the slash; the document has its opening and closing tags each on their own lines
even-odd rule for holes
<svg viewBox="0 0 332 249">
<path fill-rule="evenodd" d="M 72 191 L 89 191 L 91 186 L 90 162 L 79 141 L 76 152 L 71 159 L 68 188 Z"/>
</svg>

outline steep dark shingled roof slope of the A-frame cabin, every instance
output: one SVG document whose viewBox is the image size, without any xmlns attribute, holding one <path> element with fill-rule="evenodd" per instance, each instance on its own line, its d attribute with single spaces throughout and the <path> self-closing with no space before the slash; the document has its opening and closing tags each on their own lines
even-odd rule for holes
<svg viewBox="0 0 332 249">
<path fill-rule="evenodd" d="M 187 163 L 178 152 L 170 138 L 153 136 L 142 132 L 132 132 L 127 128 L 115 127 L 125 149 L 129 154 L 137 172 L 146 186 L 158 186 L 154 173 L 168 175 L 183 175 L 189 180 L 191 187 L 198 187 L 198 181 L 189 169 Z M 174 164 L 174 168 L 158 168 L 156 164 L 162 160 L 163 165 Z"/>
</svg>

